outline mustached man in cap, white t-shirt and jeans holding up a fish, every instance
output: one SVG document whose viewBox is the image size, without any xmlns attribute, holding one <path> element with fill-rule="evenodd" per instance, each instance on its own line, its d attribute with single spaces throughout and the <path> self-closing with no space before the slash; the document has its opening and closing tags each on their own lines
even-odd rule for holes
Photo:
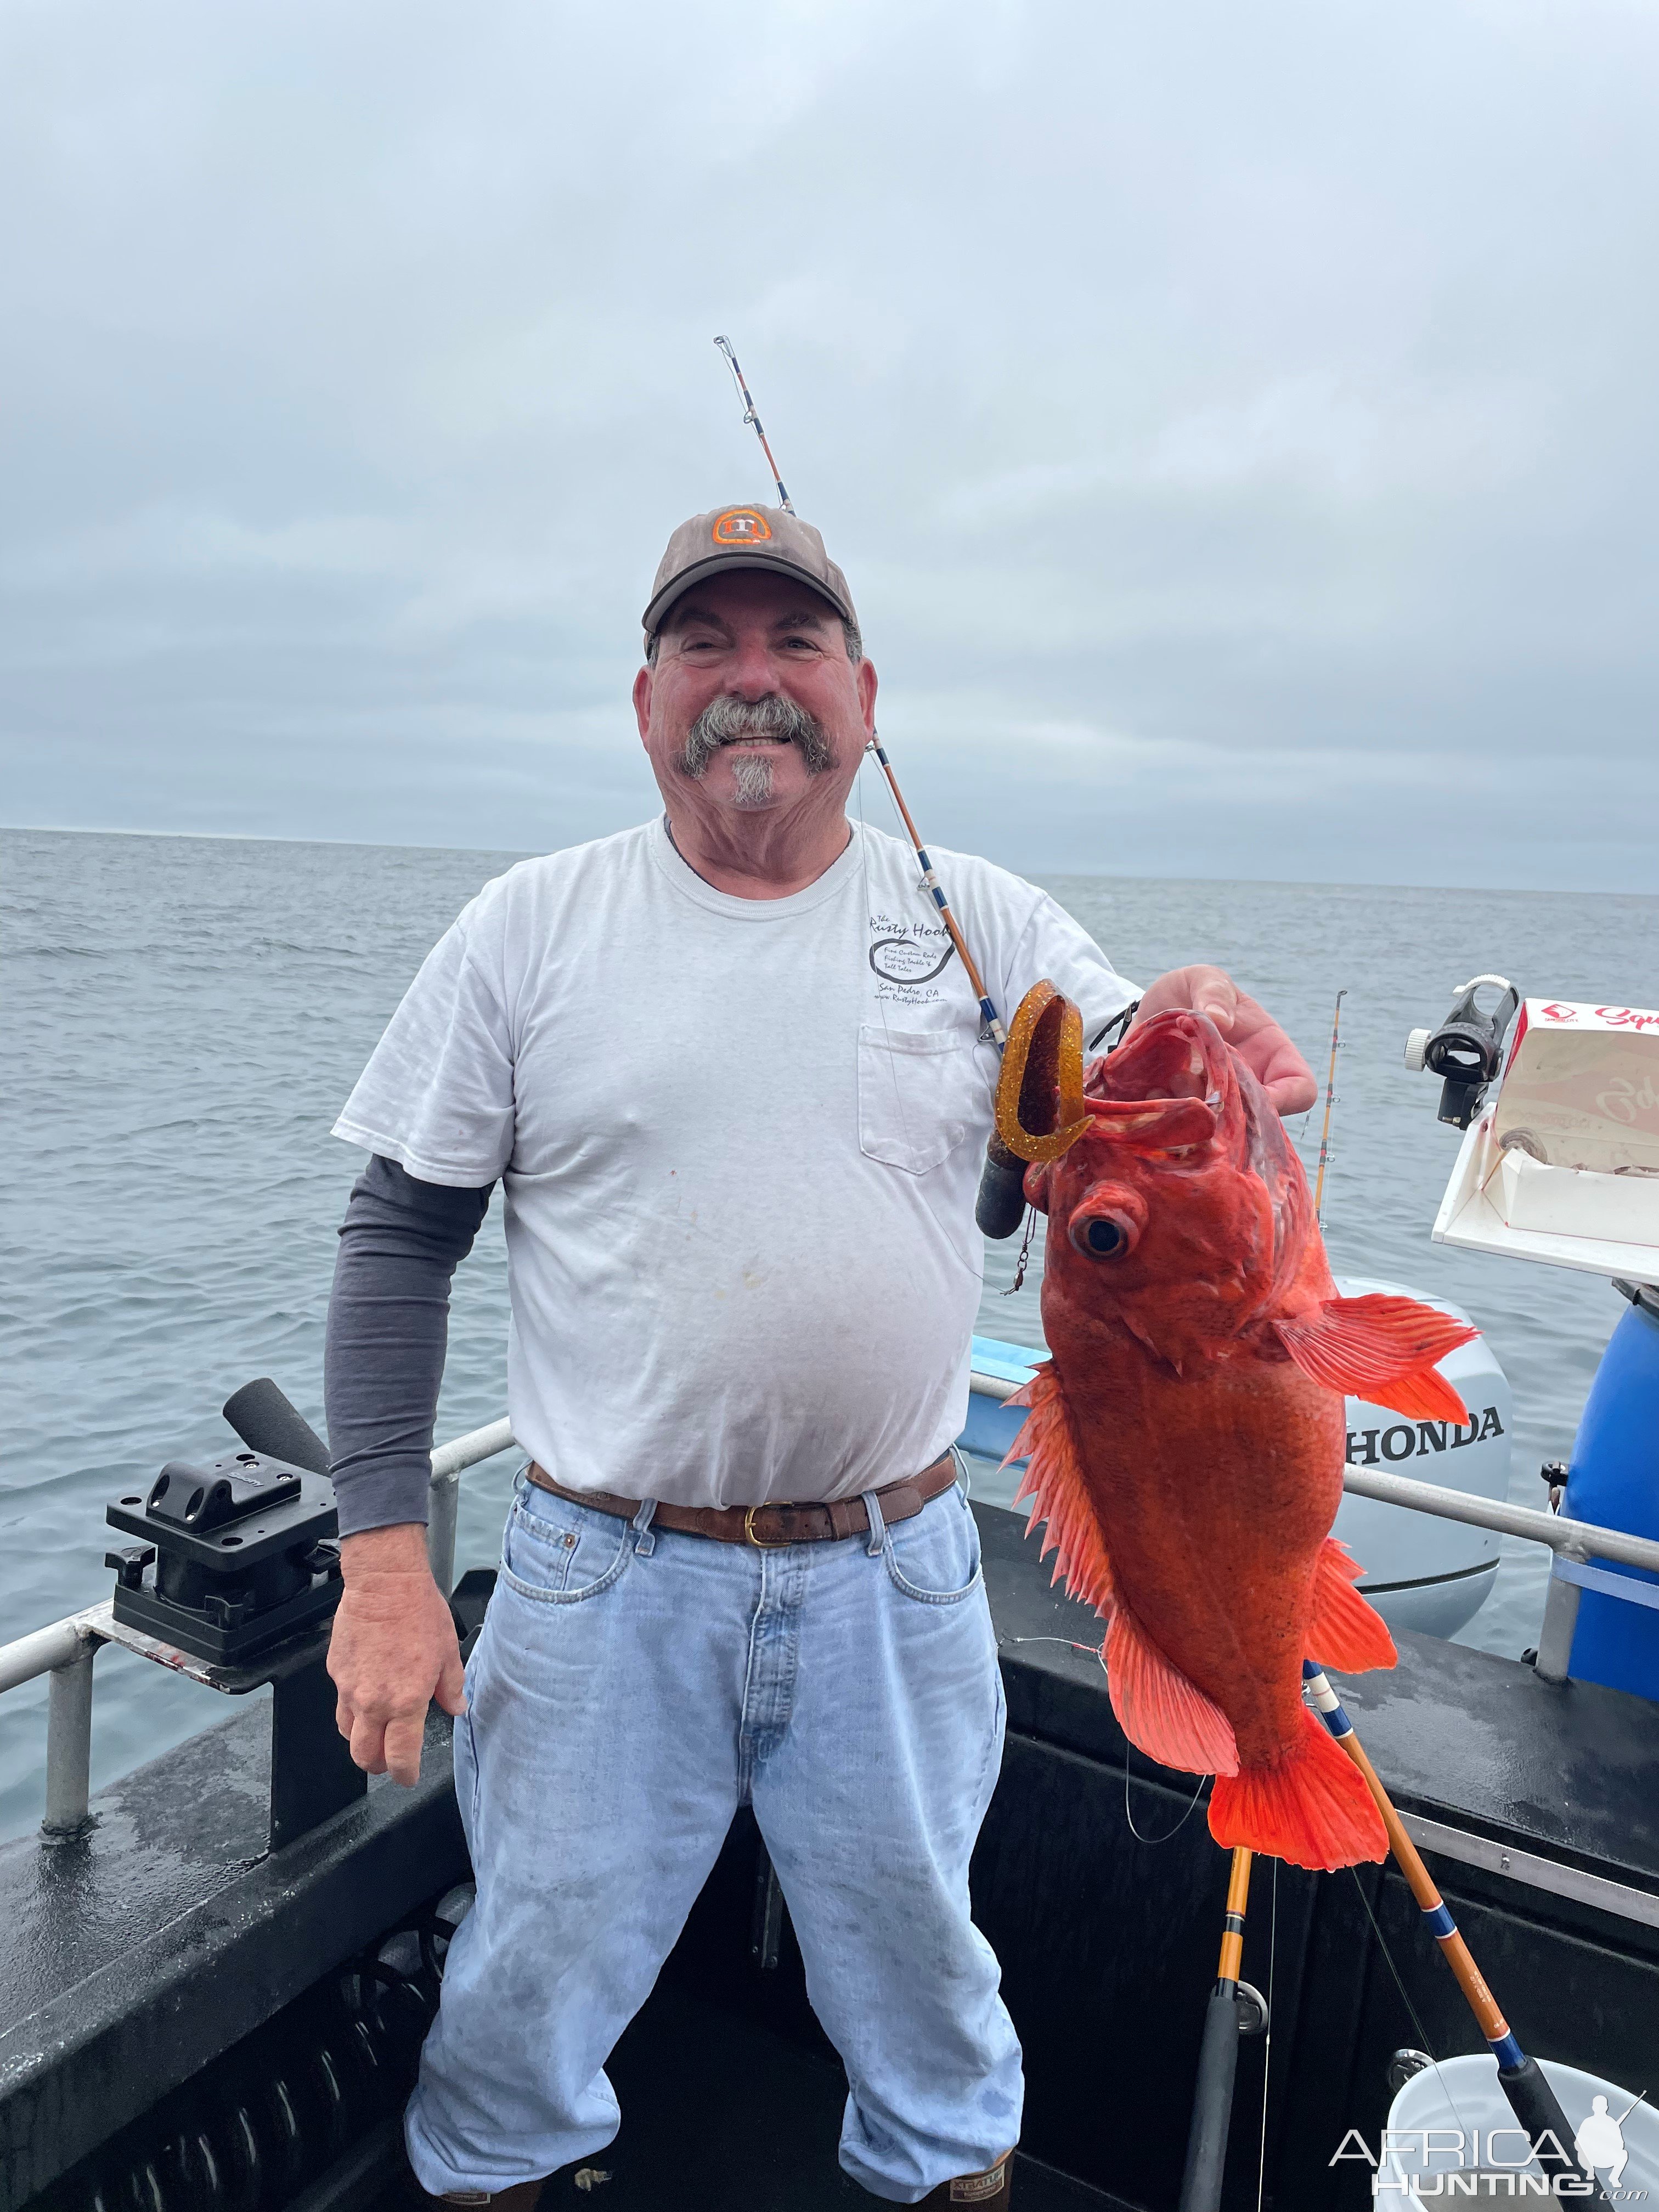
<svg viewBox="0 0 1659 2212">
<path fill-rule="evenodd" d="M 374 1159 L 330 1310 L 330 1672 L 369 1772 L 414 1781 L 429 1699 L 456 1714 L 478 1876 L 409 2159 L 442 2201 L 526 2208 L 613 2139 L 604 2062 L 748 1801 L 847 2066 L 843 2168 L 1002 2208 L 1020 2046 L 967 1889 L 1002 1690 L 949 1458 L 995 1053 L 914 854 L 847 821 L 876 670 L 818 533 L 697 515 L 644 628 L 664 814 L 487 885 L 338 1124 Z M 1124 1011 L 1053 900 L 938 860 L 1000 1006 L 1048 975 L 1091 1035 Z M 1312 1104 L 1217 969 L 1166 1004 Z M 498 1179 L 531 1464 L 462 1692 L 420 1522 L 449 1276 Z"/>
</svg>

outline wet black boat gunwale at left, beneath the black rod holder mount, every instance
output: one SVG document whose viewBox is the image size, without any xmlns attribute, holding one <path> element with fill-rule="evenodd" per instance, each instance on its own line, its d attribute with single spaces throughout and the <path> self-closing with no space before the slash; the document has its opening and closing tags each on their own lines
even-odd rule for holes
<svg viewBox="0 0 1659 2212">
<path fill-rule="evenodd" d="M 0 1849 L 0 2205 L 469 1874 L 442 1714 L 416 1790 L 374 1781 L 276 1854 L 268 1785 L 261 1705 L 126 1774 L 80 1843 Z"/>
</svg>

